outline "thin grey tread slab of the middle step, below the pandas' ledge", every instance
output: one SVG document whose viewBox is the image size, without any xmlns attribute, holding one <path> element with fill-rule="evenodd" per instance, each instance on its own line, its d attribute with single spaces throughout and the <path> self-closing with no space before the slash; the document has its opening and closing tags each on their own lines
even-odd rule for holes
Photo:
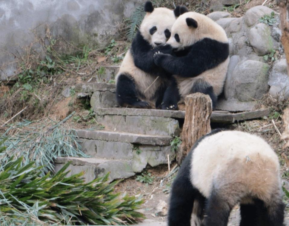
<svg viewBox="0 0 289 226">
<path fill-rule="evenodd" d="M 120 141 L 131 144 L 148 144 L 167 146 L 172 140 L 171 136 L 142 135 L 126 132 L 112 132 L 103 130 L 76 130 L 79 138 L 101 140 L 101 141 Z"/>
</svg>

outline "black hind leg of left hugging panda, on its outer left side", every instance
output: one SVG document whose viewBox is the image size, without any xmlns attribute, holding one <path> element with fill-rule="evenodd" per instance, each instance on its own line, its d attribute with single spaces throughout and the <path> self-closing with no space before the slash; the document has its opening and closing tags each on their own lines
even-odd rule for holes
<svg viewBox="0 0 289 226">
<path fill-rule="evenodd" d="M 136 89 L 135 82 L 128 74 L 121 74 L 116 84 L 116 101 L 122 106 L 130 105 L 132 107 L 148 107 L 146 101 L 139 99 L 139 93 Z"/>
</svg>

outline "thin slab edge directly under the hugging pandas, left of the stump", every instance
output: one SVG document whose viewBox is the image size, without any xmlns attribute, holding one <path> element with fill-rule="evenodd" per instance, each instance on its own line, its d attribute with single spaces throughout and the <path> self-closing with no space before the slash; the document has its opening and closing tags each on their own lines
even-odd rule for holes
<svg viewBox="0 0 289 226">
<path fill-rule="evenodd" d="M 170 118 L 185 118 L 184 111 L 157 110 L 157 109 L 140 109 L 140 108 L 101 108 L 94 107 L 97 115 L 122 115 L 122 116 L 156 116 Z"/>
</svg>

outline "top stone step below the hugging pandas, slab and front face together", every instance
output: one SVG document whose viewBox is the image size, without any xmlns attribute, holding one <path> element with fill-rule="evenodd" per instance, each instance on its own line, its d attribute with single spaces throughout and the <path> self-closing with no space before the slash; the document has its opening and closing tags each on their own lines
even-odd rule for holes
<svg viewBox="0 0 289 226">
<path fill-rule="evenodd" d="M 146 135 L 179 136 L 179 111 L 135 108 L 94 108 L 97 122 L 106 130 Z"/>
</svg>

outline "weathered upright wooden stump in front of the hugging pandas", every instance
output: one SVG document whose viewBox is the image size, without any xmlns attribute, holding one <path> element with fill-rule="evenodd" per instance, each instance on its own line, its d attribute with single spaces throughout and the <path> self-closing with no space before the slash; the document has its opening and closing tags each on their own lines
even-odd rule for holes
<svg viewBox="0 0 289 226">
<path fill-rule="evenodd" d="M 195 142 L 211 132 L 212 101 L 209 95 L 194 93 L 186 96 L 186 115 L 181 134 L 182 144 L 176 156 L 180 165 Z"/>
</svg>

